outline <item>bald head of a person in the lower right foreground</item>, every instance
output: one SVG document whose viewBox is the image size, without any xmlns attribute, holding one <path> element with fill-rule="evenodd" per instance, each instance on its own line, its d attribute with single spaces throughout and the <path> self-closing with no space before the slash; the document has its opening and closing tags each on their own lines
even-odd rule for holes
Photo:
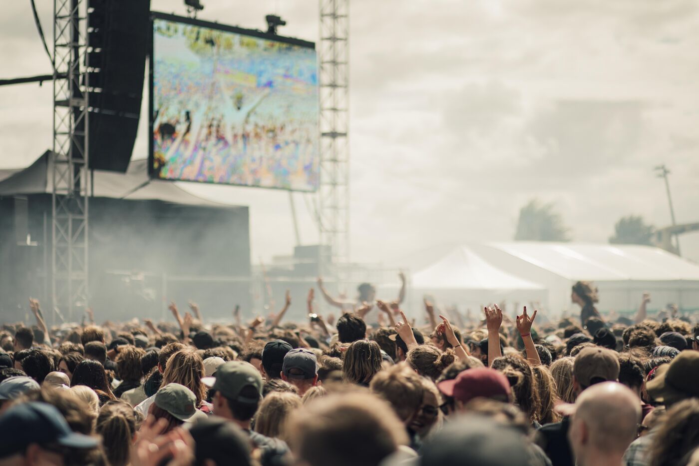
<svg viewBox="0 0 699 466">
<path fill-rule="evenodd" d="M 621 458 L 635 439 L 640 418 L 640 400 L 626 386 L 617 382 L 591 386 L 575 402 L 575 417 L 569 432 L 575 455 L 579 459 Z"/>
</svg>

